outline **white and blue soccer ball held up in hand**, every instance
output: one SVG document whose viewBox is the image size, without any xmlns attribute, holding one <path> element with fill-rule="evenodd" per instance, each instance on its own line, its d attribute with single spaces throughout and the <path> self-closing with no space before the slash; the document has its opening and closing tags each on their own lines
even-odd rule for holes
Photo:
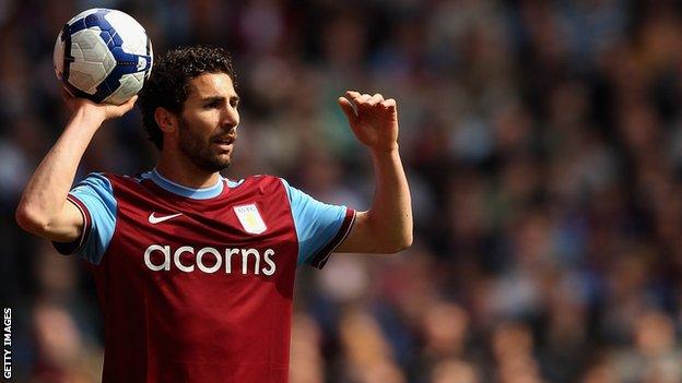
<svg viewBox="0 0 682 383">
<path fill-rule="evenodd" d="M 57 36 L 55 73 L 77 97 L 120 105 L 152 71 L 152 43 L 127 13 L 95 8 L 71 19 Z"/>
</svg>

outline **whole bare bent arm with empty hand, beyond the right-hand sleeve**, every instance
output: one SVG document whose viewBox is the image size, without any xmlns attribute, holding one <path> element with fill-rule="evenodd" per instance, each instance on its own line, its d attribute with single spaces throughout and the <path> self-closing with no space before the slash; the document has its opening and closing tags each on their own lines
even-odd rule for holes
<svg viewBox="0 0 682 383">
<path fill-rule="evenodd" d="M 393 253 L 412 244 L 410 188 L 398 152 L 396 100 L 346 92 L 339 105 L 360 142 L 369 147 L 376 189 L 372 207 L 358 212 L 334 252 Z"/>
</svg>

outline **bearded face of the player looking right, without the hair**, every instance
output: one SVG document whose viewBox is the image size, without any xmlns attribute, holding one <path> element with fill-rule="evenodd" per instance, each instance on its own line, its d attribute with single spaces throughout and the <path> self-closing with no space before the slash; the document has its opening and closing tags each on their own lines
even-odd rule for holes
<svg viewBox="0 0 682 383">
<path fill-rule="evenodd" d="M 179 148 L 200 169 L 230 166 L 237 139 L 239 97 L 225 73 L 204 73 L 189 81 L 179 119 Z"/>
</svg>

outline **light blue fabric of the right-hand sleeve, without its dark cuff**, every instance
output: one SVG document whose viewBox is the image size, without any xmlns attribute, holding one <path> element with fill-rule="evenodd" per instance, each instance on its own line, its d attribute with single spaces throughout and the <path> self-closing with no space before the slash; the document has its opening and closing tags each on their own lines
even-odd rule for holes
<svg viewBox="0 0 682 383">
<path fill-rule="evenodd" d="M 319 202 L 281 180 L 286 189 L 298 238 L 298 265 L 310 264 L 338 237 L 346 217 L 346 207 Z"/>
</svg>

